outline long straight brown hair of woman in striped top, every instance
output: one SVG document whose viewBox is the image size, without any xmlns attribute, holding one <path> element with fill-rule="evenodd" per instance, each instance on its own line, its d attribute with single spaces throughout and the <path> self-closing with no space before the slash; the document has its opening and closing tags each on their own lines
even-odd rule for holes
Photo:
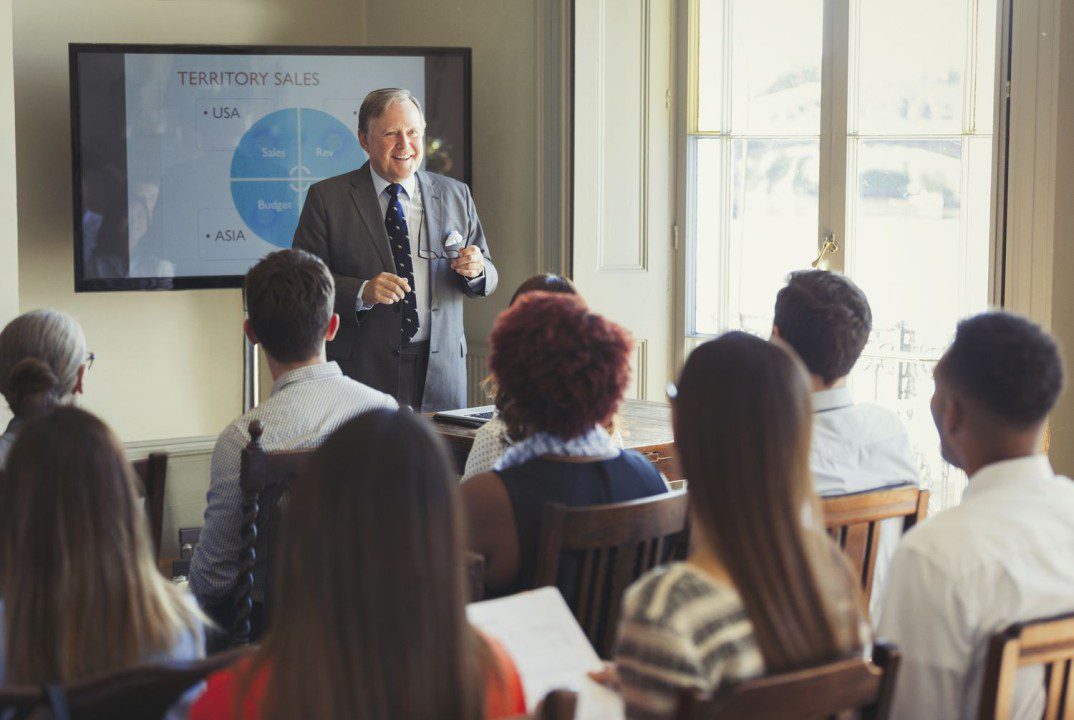
<svg viewBox="0 0 1074 720">
<path fill-rule="evenodd" d="M 713 378 L 719 378 L 714 381 Z M 742 332 L 686 360 L 674 438 L 699 537 L 726 565 L 769 673 L 860 647 L 860 593 L 823 528 L 809 469 L 809 379 L 781 345 Z"/>
</svg>

